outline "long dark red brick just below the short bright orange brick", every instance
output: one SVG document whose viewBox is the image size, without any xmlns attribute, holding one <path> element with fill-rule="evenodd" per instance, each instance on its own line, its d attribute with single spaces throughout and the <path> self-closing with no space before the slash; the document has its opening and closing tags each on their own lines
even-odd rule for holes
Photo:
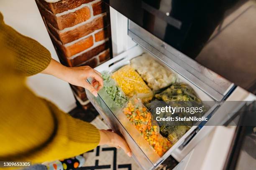
<svg viewBox="0 0 256 170">
<path fill-rule="evenodd" d="M 85 62 L 87 60 L 90 60 L 95 55 L 100 54 L 100 52 L 107 50 L 108 47 L 109 47 L 109 42 L 105 42 L 102 45 L 99 45 L 90 51 L 87 51 L 81 55 L 78 55 L 77 57 L 70 60 L 71 66 L 74 67 L 74 66 L 82 64 L 83 62 Z"/>
</svg>

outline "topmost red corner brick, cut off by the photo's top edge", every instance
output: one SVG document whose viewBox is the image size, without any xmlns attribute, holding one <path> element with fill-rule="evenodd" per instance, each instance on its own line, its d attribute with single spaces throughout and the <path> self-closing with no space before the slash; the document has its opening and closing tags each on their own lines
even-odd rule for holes
<svg viewBox="0 0 256 170">
<path fill-rule="evenodd" d="M 38 0 L 47 10 L 53 14 L 63 13 L 64 11 L 74 9 L 82 4 L 92 2 L 93 0 L 60 0 L 54 3 L 48 3 L 45 0 Z"/>
</svg>

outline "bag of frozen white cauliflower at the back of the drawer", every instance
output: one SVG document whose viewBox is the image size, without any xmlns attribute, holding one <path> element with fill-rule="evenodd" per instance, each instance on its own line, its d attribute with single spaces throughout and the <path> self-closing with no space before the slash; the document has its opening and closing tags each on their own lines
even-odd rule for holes
<svg viewBox="0 0 256 170">
<path fill-rule="evenodd" d="M 131 67 L 141 75 L 153 91 L 167 87 L 177 80 L 173 72 L 156 62 L 147 53 L 132 59 Z"/>
</svg>

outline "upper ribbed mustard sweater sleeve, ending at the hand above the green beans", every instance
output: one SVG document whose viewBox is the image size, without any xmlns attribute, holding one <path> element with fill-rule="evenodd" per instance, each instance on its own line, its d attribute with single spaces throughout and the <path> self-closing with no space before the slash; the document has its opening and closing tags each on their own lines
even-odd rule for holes
<svg viewBox="0 0 256 170">
<path fill-rule="evenodd" d="M 30 37 L 21 35 L 3 21 L 0 13 L 0 34 L 3 35 L 5 46 L 12 51 L 15 68 L 25 76 L 35 75 L 49 65 L 51 53 L 44 46 Z"/>
</svg>

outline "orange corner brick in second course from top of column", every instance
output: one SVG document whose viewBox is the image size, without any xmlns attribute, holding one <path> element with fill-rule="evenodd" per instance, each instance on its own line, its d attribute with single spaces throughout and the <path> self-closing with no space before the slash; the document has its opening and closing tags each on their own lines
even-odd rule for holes
<svg viewBox="0 0 256 170">
<path fill-rule="evenodd" d="M 88 20 L 91 17 L 89 7 L 82 7 L 81 9 L 72 13 L 67 13 L 58 17 L 48 12 L 46 9 L 44 9 L 44 7 L 41 7 L 41 5 L 38 5 L 38 9 L 40 10 L 41 15 L 45 18 L 46 22 L 50 23 L 58 30 L 72 27 Z"/>
</svg>

